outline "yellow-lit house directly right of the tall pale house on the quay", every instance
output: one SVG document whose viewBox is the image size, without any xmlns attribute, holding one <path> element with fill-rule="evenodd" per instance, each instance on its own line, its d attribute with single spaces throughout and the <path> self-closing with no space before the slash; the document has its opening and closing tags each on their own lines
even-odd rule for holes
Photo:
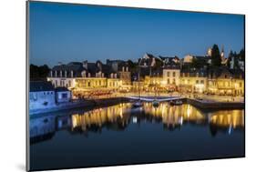
<svg viewBox="0 0 256 172">
<path fill-rule="evenodd" d="M 204 93 L 207 91 L 207 73 L 205 69 L 182 69 L 179 79 L 181 93 Z"/>
</svg>

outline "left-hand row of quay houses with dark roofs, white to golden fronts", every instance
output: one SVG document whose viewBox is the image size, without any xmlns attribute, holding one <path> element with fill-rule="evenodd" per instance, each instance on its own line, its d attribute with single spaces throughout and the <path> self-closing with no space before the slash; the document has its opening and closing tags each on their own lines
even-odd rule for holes
<svg viewBox="0 0 256 172">
<path fill-rule="evenodd" d="M 84 61 L 71 62 L 67 65 L 54 66 L 47 77 L 55 87 L 65 86 L 79 90 L 96 90 L 108 88 L 117 90 L 120 86 L 129 86 L 130 72 L 127 63 L 123 61 L 110 61 L 108 65 L 97 61 L 88 63 Z"/>
</svg>

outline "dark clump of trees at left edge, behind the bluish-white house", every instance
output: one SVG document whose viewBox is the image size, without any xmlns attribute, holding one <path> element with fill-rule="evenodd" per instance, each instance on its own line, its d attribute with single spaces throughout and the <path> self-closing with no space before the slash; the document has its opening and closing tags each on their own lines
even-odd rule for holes
<svg viewBox="0 0 256 172">
<path fill-rule="evenodd" d="M 46 76 L 48 76 L 50 72 L 50 68 L 46 65 L 44 66 L 35 66 L 33 64 L 29 67 L 29 76 L 30 80 L 46 80 Z"/>
</svg>

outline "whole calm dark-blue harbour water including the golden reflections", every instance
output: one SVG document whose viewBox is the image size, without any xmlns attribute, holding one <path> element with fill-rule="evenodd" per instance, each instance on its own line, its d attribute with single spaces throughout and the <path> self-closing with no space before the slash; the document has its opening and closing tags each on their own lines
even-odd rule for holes
<svg viewBox="0 0 256 172">
<path fill-rule="evenodd" d="M 31 170 L 244 157 L 244 111 L 119 104 L 30 119 Z"/>
</svg>

